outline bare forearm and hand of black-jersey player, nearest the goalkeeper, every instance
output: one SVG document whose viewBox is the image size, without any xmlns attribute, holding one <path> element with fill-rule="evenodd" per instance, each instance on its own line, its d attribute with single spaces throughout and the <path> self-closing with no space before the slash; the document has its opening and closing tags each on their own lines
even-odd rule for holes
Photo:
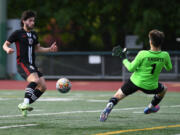
<svg viewBox="0 0 180 135">
<path fill-rule="evenodd" d="M 40 44 L 37 44 L 36 46 L 36 52 L 57 52 L 57 45 L 56 42 L 54 42 L 50 47 L 45 48 L 41 47 Z"/>
</svg>

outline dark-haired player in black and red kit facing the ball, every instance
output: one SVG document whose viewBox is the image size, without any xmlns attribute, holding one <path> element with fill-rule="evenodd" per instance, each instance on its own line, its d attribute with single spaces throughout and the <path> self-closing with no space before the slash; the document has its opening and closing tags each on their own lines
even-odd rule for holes
<svg viewBox="0 0 180 135">
<path fill-rule="evenodd" d="M 21 17 L 22 28 L 14 31 L 3 45 L 7 54 L 12 54 L 14 49 L 10 45 L 15 42 L 17 51 L 17 66 L 20 75 L 29 83 L 25 89 L 24 102 L 18 105 L 23 116 L 27 116 L 27 111 L 32 111 L 30 106 L 46 90 L 45 79 L 35 65 L 35 52 L 55 52 L 56 42 L 49 48 L 40 46 L 38 36 L 33 31 L 36 13 L 31 10 L 24 11 Z"/>
</svg>

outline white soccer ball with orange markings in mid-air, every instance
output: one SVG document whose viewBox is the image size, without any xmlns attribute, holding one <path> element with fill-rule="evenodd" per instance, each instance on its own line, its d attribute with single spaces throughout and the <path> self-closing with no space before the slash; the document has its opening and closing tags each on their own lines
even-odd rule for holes
<svg viewBox="0 0 180 135">
<path fill-rule="evenodd" d="M 56 89 L 61 93 L 67 93 L 71 89 L 71 82 L 67 78 L 60 78 L 56 82 Z"/>
</svg>

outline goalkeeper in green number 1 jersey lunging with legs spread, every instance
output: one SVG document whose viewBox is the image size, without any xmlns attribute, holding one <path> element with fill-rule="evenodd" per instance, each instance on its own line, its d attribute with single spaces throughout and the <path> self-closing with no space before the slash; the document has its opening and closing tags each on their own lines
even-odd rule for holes
<svg viewBox="0 0 180 135">
<path fill-rule="evenodd" d="M 123 59 L 124 66 L 133 73 L 130 79 L 109 100 L 109 103 L 100 115 L 101 122 L 108 118 L 111 110 L 120 100 L 138 90 L 146 94 L 154 94 L 151 103 L 144 109 L 145 114 L 155 113 L 160 109 L 158 104 L 163 99 L 167 87 L 158 82 L 159 74 L 163 68 L 167 71 L 172 69 L 168 52 L 161 51 L 163 40 L 163 32 L 152 30 L 149 32 L 150 50 L 140 51 L 132 62 L 128 61 L 125 52 L 121 51 L 118 53 L 118 56 L 121 56 Z M 116 48 L 116 53 L 117 50 Z"/>
</svg>

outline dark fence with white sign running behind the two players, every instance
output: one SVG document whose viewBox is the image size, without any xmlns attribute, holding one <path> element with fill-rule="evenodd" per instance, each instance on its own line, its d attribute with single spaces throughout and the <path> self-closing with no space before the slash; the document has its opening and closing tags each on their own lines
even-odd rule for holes
<svg viewBox="0 0 180 135">
<path fill-rule="evenodd" d="M 137 54 L 131 52 L 132 60 Z M 180 52 L 170 52 L 173 70 L 163 70 L 161 80 L 177 80 L 180 77 Z M 122 60 L 111 52 L 58 52 L 37 55 L 37 65 L 47 79 L 122 79 L 130 73 L 122 66 Z"/>
</svg>

